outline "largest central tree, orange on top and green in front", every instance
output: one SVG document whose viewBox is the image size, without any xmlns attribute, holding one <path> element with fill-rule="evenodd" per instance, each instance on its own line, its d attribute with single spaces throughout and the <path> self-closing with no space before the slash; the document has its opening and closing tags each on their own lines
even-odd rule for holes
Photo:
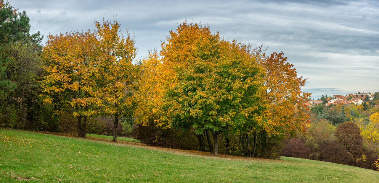
<svg viewBox="0 0 379 183">
<path fill-rule="evenodd" d="M 228 127 L 238 132 L 262 111 L 260 67 L 245 49 L 192 22 L 180 24 L 162 43 L 164 66 L 174 73 L 163 97 L 164 116 L 173 127 L 210 130 L 215 155 L 219 134 Z"/>
</svg>

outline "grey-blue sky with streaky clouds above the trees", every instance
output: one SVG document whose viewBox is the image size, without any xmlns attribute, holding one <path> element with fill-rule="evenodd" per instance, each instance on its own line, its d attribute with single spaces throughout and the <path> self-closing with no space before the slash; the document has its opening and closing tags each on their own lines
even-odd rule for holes
<svg viewBox="0 0 379 183">
<path fill-rule="evenodd" d="M 30 17 L 31 33 L 94 29 L 94 20 L 134 32 L 141 59 L 184 21 L 201 22 L 227 39 L 283 51 L 304 92 L 347 95 L 379 92 L 379 1 L 122 1 L 14 0 Z"/>
</svg>

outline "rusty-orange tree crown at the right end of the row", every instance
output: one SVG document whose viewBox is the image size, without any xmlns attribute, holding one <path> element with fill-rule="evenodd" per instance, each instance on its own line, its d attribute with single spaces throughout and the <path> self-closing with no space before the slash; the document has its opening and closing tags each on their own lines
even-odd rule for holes
<svg viewBox="0 0 379 183">
<path fill-rule="evenodd" d="M 256 48 L 255 54 L 260 57 L 258 63 L 265 72 L 262 98 L 269 104 L 265 113 L 268 121 L 263 130 L 268 135 L 279 135 L 296 128 L 304 129 L 308 118 L 305 101 L 310 97 L 310 93 L 301 91 L 306 79 L 297 75 L 296 68 L 287 62 L 283 53 L 273 52 L 266 56 L 261 48 Z"/>
</svg>

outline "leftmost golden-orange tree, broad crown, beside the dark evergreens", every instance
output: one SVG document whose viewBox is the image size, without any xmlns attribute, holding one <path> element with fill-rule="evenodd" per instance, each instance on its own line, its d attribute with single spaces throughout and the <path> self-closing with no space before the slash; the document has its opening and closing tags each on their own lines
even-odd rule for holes
<svg viewBox="0 0 379 183">
<path fill-rule="evenodd" d="M 102 106 L 99 73 L 103 71 L 101 50 L 91 31 L 49 35 L 43 50 L 46 72 L 44 103 L 59 100 L 77 118 L 78 135 L 86 137 L 88 116 Z"/>
</svg>

